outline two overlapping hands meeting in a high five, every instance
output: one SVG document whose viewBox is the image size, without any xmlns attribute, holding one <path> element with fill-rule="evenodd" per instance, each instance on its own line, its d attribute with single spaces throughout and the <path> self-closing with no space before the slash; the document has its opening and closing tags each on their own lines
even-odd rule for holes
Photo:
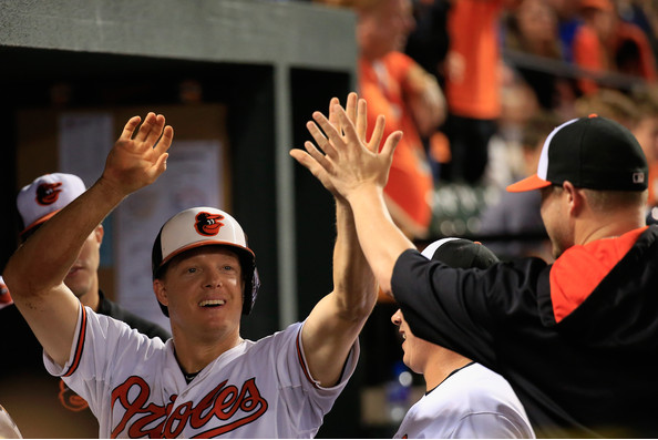
<svg viewBox="0 0 658 440">
<path fill-rule="evenodd" d="M 315 122 L 307 123 L 317 146 L 312 142 L 306 142 L 307 152 L 290 152 L 297 162 L 306 166 L 337 197 L 349 199 L 356 190 L 364 185 L 383 188 L 394 147 L 402 137 L 402 132 L 392 133 L 378 153 L 384 119 L 381 115 L 377 119 L 372 136 L 367 142 L 366 105 L 366 101 L 358 100 L 356 93 L 348 96 L 347 111 L 337 99 L 332 99 L 329 119 L 315 112 Z"/>
</svg>

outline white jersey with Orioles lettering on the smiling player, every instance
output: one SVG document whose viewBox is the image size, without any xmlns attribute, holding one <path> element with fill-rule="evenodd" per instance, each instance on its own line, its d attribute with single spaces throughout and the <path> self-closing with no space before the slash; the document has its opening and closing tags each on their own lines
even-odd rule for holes
<svg viewBox="0 0 658 440">
<path fill-rule="evenodd" d="M 82 308 L 69 361 L 53 376 L 84 398 L 101 438 L 312 438 L 353 374 L 354 342 L 340 382 L 310 376 L 297 323 L 222 354 L 189 382 L 166 344 Z"/>
</svg>

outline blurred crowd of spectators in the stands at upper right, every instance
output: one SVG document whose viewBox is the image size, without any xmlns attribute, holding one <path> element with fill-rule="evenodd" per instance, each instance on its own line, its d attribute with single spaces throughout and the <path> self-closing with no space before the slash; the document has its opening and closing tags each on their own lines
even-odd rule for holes
<svg viewBox="0 0 658 440">
<path fill-rule="evenodd" d="M 655 221 L 658 3 L 316 2 L 357 12 L 360 94 L 372 117 L 383 113 L 389 131 L 405 134 L 387 202 L 421 246 L 473 236 L 502 258 L 551 258 L 538 194 L 504 188 L 536 171 L 555 126 L 592 113 L 623 123 L 640 142 L 651 168 L 647 214 Z"/>
</svg>

